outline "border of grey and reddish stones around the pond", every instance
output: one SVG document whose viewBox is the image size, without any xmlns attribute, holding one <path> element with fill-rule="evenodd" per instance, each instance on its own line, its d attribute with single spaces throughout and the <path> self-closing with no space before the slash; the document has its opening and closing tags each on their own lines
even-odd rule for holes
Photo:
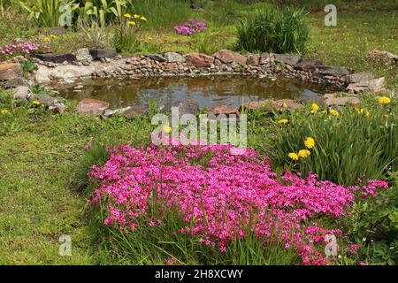
<svg viewBox="0 0 398 283">
<path fill-rule="evenodd" d="M 0 64 L 0 80 L 5 80 L 12 89 L 13 97 L 21 101 L 33 98 L 43 101 L 50 109 L 63 112 L 65 104 L 60 99 L 49 98 L 47 95 L 33 96 L 26 85 L 43 84 L 49 81 L 73 82 L 73 80 L 90 77 L 145 77 L 173 75 L 209 75 L 241 73 L 258 77 L 284 76 L 297 80 L 328 85 L 354 96 L 364 92 L 385 92 L 386 80 L 375 78 L 371 73 L 355 73 L 354 70 L 342 66 L 323 65 L 316 59 L 305 59 L 300 54 L 247 54 L 232 50 L 218 50 L 212 56 L 202 53 L 183 54 L 180 52 L 165 52 L 162 54 L 121 55 L 115 50 L 80 49 L 66 54 L 40 54 L 34 57 L 38 65 L 36 71 L 30 74 L 28 80 L 22 80 L 22 69 L 19 65 L 23 57 L 14 57 L 10 62 Z M 351 96 L 334 97 L 325 95 L 318 97 L 319 102 L 328 106 L 341 106 L 346 103 L 357 104 L 358 98 Z M 249 103 L 249 110 L 256 110 L 259 105 L 266 104 L 269 111 L 294 111 L 302 108 L 302 103 L 293 100 L 280 100 L 270 103 Z M 289 105 L 284 107 L 284 105 Z M 97 107 L 98 106 L 98 107 Z M 232 110 L 227 105 L 215 105 Z M 80 114 L 103 115 L 129 113 L 128 118 L 134 118 L 145 113 L 144 106 L 127 107 L 111 111 L 109 103 L 84 99 L 78 104 L 76 111 Z M 251 109 L 252 108 L 252 109 Z M 233 110 L 234 112 L 235 110 Z M 236 108 L 238 111 L 238 108 Z"/>
</svg>

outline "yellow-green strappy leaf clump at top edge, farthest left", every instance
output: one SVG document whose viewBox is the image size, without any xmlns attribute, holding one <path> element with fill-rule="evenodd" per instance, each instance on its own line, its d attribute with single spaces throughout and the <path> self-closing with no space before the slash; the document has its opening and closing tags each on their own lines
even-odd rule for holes
<svg viewBox="0 0 398 283">
<path fill-rule="evenodd" d="M 30 19 L 37 19 L 44 27 L 59 26 L 59 19 L 63 14 L 60 7 L 68 4 L 71 11 L 78 9 L 79 4 L 75 4 L 75 0 L 32 0 L 19 1 L 20 7 L 29 13 Z M 72 16 L 72 15 L 71 15 Z"/>
</svg>

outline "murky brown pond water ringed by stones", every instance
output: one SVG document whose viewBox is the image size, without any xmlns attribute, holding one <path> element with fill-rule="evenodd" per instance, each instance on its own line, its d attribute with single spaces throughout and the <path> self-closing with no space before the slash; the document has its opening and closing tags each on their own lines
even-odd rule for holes
<svg viewBox="0 0 398 283">
<path fill-rule="evenodd" d="M 149 99 L 165 106 L 186 99 L 196 100 L 200 107 L 217 104 L 240 106 L 242 100 L 247 103 L 264 98 L 317 96 L 327 91 L 325 86 L 295 79 L 242 75 L 90 78 L 50 87 L 58 91 L 58 96 L 67 99 L 94 98 L 116 108 L 146 104 Z"/>
</svg>

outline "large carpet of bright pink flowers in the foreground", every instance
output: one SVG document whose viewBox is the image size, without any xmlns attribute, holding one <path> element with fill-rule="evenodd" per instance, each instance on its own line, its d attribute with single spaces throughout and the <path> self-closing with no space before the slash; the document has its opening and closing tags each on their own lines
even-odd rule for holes
<svg viewBox="0 0 398 283">
<path fill-rule="evenodd" d="M 323 229 L 313 219 L 340 217 L 360 188 L 320 181 L 314 174 L 307 179 L 291 172 L 278 177 L 254 150 L 234 156 L 231 149 L 153 144 L 109 149 L 109 160 L 89 172 L 99 187 L 88 203 L 101 201 L 104 225 L 125 232 L 134 231 L 142 217 L 149 226 L 162 225 L 168 211 L 177 210 L 186 226 L 176 233 L 199 237 L 221 252 L 249 232 L 264 243 L 282 241 L 304 264 L 326 264 L 325 235 L 341 231 Z"/>
</svg>

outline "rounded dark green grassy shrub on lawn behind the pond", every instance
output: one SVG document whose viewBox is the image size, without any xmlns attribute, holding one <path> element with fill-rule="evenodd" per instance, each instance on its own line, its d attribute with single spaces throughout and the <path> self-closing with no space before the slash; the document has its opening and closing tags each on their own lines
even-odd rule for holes
<svg viewBox="0 0 398 283">
<path fill-rule="evenodd" d="M 292 7 L 256 11 L 237 28 L 238 48 L 251 52 L 301 52 L 309 38 L 304 11 Z"/>
</svg>

